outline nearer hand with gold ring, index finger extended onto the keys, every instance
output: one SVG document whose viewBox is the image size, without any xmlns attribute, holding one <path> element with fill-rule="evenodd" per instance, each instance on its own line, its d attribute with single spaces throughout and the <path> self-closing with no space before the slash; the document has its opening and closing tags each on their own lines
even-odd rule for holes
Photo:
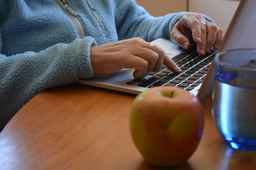
<svg viewBox="0 0 256 170">
<path fill-rule="evenodd" d="M 133 77 L 142 77 L 151 70 L 159 70 L 162 64 L 171 71 L 180 68 L 157 45 L 141 38 L 130 38 L 91 47 L 91 64 L 95 75 L 107 75 L 122 68 L 135 68 Z"/>
</svg>

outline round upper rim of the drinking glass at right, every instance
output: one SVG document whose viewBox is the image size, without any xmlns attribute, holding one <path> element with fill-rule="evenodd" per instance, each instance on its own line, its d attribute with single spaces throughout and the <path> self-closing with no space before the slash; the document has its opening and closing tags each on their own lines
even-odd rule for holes
<svg viewBox="0 0 256 170">
<path fill-rule="evenodd" d="M 256 52 L 256 49 L 230 49 L 230 50 L 224 50 L 224 51 L 218 51 L 216 53 L 216 56 L 214 57 L 215 62 L 217 62 L 218 64 L 220 64 L 221 66 L 228 66 L 230 68 L 236 68 L 239 70 L 247 70 L 247 71 L 256 71 L 256 67 L 245 67 L 245 66 L 240 66 L 240 65 L 235 65 L 235 64 L 230 64 L 228 62 L 225 61 L 221 61 L 220 56 L 225 54 L 225 53 L 229 53 L 229 52 L 236 52 L 236 51 L 251 51 L 251 52 Z"/>
</svg>

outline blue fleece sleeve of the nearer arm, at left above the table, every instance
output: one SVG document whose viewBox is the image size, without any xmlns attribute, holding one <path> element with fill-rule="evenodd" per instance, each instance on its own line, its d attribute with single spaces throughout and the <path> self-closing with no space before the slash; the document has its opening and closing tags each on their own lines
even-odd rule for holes
<svg viewBox="0 0 256 170">
<path fill-rule="evenodd" d="M 0 129 L 40 91 L 94 77 L 90 64 L 94 44 L 93 38 L 85 37 L 38 53 L 0 55 Z"/>
</svg>

